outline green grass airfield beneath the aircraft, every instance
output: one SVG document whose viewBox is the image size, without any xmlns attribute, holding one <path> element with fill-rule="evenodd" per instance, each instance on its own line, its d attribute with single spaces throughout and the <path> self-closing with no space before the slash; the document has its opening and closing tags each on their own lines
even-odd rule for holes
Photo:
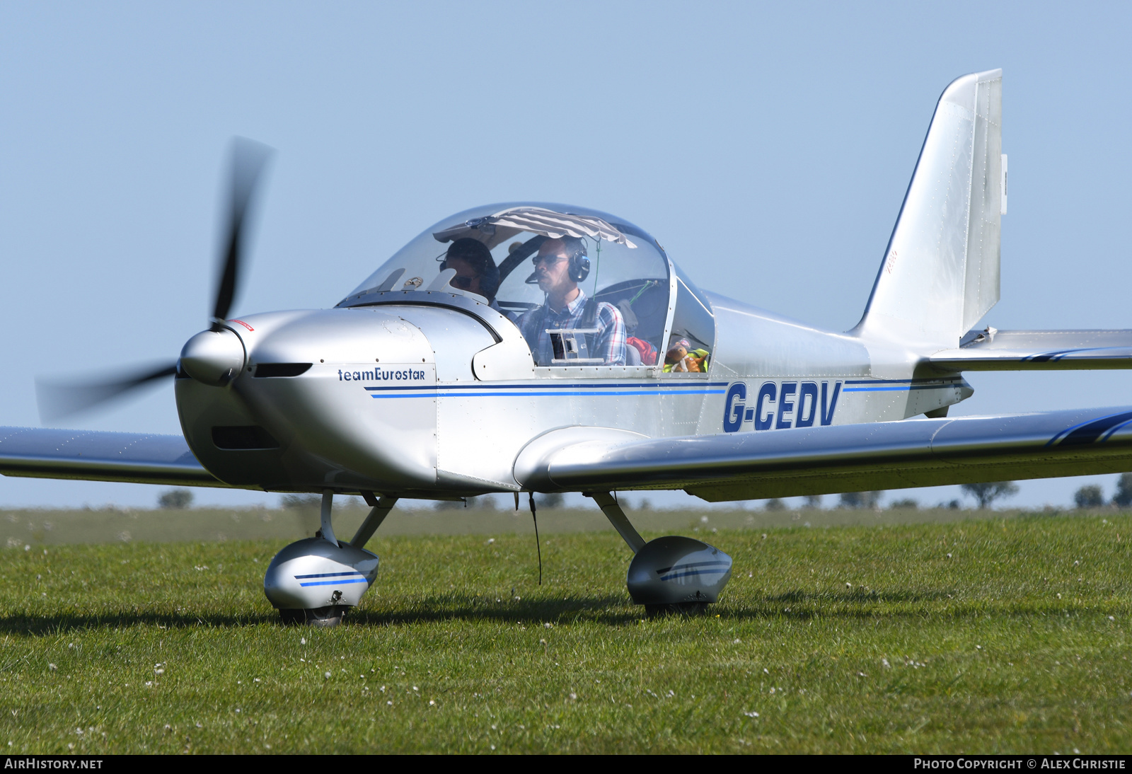
<svg viewBox="0 0 1132 774">
<path fill-rule="evenodd" d="M 263 595 L 288 536 L 66 545 L 41 524 L 0 549 L 0 747 L 1132 749 L 1132 517 L 747 515 L 680 516 L 736 562 L 705 617 L 642 620 L 620 539 L 552 515 L 537 586 L 529 523 L 504 513 L 492 535 L 383 526 L 378 582 L 331 630 L 280 626 Z"/>
</svg>

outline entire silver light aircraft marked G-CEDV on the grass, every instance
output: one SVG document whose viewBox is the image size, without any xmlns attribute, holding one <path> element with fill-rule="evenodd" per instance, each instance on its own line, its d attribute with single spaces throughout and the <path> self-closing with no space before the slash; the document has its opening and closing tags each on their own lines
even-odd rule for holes
<svg viewBox="0 0 1132 774">
<path fill-rule="evenodd" d="M 208 329 L 154 371 L 41 385 L 58 413 L 174 378 L 183 438 L 2 428 L 0 472 L 320 492 L 320 531 L 284 548 L 264 586 L 284 620 L 333 625 L 375 582 L 365 545 L 398 498 L 582 492 L 633 550 L 629 594 L 655 612 L 717 601 L 731 559 L 689 538 L 645 542 L 619 490 L 722 501 L 1132 470 L 1132 406 L 947 419 L 974 392 L 964 371 L 1132 367 L 1132 330 L 976 327 L 1000 294 L 1001 124 L 1001 70 L 943 92 L 846 333 L 700 290 L 623 218 L 538 203 L 444 218 L 333 309 L 228 319 L 267 158 L 238 143 Z M 457 244 L 489 259 L 469 272 Z M 372 508 L 349 541 L 335 494 Z"/>
</svg>

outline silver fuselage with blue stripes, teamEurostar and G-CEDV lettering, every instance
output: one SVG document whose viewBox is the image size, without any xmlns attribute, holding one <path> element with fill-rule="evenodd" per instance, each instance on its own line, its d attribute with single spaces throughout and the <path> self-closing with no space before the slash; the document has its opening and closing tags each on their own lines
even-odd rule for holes
<svg viewBox="0 0 1132 774">
<path fill-rule="evenodd" d="M 239 372 L 224 386 L 177 380 L 185 437 L 209 472 L 273 491 L 547 491 L 558 487 L 537 463 L 582 429 L 585 440 L 594 429 L 609 440 L 766 432 L 901 420 L 972 394 L 923 352 L 718 295 L 706 373 L 538 368 L 515 325 L 477 296 L 362 296 L 231 320 Z"/>
</svg>

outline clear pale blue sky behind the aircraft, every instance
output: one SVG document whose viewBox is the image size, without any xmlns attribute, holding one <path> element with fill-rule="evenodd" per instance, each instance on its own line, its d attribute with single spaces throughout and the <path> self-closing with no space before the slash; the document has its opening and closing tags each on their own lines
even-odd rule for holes
<svg viewBox="0 0 1132 774">
<path fill-rule="evenodd" d="M 534 199 L 616 213 L 701 286 L 847 329 L 935 100 L 995 67 L 1011 188 L 986 321 L 1132 327 L 1130 8 L 2 3 L 0 423 L 38 424 L 36 375 L 170 360 L 204 327 L 233 135 L 277 149 L 237 313 L 333 306 L 440 217 Z M 1126 372 L 968 380 L 953 414 L 1132 403 Z M 179 432 L 171 386 L 67 424 Z M 155 497 L 0 479 L 3 506 Z"/>
</svg>

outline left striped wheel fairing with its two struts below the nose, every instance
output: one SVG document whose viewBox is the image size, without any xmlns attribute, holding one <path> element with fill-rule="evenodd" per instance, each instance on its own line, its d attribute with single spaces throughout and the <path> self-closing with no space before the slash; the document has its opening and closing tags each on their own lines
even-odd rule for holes
<svg viewBox="0 0 1132 774">
<path fill-rule="evenodd" d="M 284 624 L 337 626 L 374 583 L 378 558 L 365 545 L 397 500 L 363 494 L 374 508 L 352 541 L 342 543 L 335 536 L 331 519 L 334 492 L 326 490 L 318 533 L 291 543 L 272 559 L 264 577 L 264 593 Z"/>
</svg>

